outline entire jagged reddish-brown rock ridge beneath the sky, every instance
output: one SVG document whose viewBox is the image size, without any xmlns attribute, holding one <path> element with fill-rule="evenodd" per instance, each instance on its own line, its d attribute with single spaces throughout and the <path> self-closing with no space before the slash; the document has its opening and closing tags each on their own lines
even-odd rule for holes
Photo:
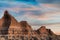
<svg viewBox="0 0 60 40">
<path fill-rule="evenodd" d="M 7 10 L 0 19 L 0 35 L 14 35 L 15 38 L 20 36 L 22 40 L 24 40 L 24 36 L 25 40 L 60 40 L 60 35 L 56 35 L 51 29 L 41 26 L 39 29 L 33 30 L 27 21 L 18 22 Z"/>
</svg>

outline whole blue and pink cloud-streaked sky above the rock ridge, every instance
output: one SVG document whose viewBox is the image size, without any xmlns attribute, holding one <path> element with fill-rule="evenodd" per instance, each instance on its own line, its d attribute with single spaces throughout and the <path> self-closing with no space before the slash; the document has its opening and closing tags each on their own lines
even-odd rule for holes
<svg viewBox="0 0 60 40">
<path fill-rule="evenodd" d="M 4 11 L 20 21 L 27 21 L 33 29 L 42 25 L 60 34 L 60 0 L 0 0 L 0 18 Z"/>
</svg>

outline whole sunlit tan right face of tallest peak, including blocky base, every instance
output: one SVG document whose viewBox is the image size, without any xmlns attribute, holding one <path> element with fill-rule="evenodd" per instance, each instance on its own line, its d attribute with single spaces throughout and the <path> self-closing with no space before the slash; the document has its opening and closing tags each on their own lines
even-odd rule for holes
<svg viewBox="0 0 60 40">
<path fill-rule="evenodd" d="M 11 24 L 9 26 L 9 35 L 18 35 L 20 34 L 20 31 L 22 30 L 20 23 L 13 17 L 10 16 L 11 18 Z"/>
</svg>

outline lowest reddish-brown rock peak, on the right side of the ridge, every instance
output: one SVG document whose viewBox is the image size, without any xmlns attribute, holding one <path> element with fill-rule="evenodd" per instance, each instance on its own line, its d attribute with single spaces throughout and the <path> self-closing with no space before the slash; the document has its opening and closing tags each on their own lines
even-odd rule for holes
<svg viewBox="0 0 60 40">
<path fill-rule="evenodd" d="M 36 32 L 39 34 L 41 40 L 58 40 L 57 35 L 45 26 L 41 26 Z"/>
</svg>

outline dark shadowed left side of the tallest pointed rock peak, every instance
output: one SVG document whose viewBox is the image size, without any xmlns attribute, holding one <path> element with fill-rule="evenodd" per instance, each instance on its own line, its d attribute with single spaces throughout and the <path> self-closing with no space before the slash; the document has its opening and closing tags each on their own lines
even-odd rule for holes
<svg viewBox="0 0 60 40">
<path fill-rule="evenodd" d="M 11 18 L 8 11 L 4 12 L 4 16 L 0 19 L 0 34 L 6 35 L 8 34 L 8 29 L 11 24 Z"/>
</svg>

